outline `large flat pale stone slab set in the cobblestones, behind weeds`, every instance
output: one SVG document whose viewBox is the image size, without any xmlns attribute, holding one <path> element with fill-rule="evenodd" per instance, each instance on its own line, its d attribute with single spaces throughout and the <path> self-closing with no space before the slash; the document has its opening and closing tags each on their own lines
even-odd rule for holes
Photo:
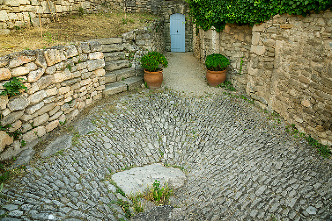
<svg viewBox="0 0 332 221">
<path fill-rule="evenodd" d="M 112 179 L 125 192 L 126 196 L 130 196 L 131 193 L 144 192 L 147 186 L 153 185 L 155 179 L 160 181 L 160 185 L 167 182 L 170 188 L 176 190 L 185 185 L 187 177 L 177 168 L 165 167 L 156 163 L 115 173 Z"/>
</svg>

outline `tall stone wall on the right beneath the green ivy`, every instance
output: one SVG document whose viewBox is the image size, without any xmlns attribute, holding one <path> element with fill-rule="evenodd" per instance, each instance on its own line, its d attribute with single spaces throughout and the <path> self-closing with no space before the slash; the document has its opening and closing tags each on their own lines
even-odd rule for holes
<svg viewBox="0 0 332 221">
<path fill-rule="evenodd" d="M 200 30 L 195 53 L 202 62 L 211 53 L 226 55 L 227 78 L 239 91 L 331 145 L 331 33 L 331 11 L 305 18 L 282 14 L 252 28 L 227 24 L 220 33 Z"/>
</svg>

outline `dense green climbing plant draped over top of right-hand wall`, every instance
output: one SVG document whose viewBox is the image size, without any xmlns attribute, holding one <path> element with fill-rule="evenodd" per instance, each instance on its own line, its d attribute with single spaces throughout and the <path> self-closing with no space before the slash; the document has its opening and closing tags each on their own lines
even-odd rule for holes
<svg viewBox="0 0 332 221">
<path fill-rule="evenodd" d="M 331 0 L 187 0 L 195 23 L 203 30 L 217 31 L 226 23 L 260 24 L 276 14 L 303 15 L 325 11 Z"/>
</svg>

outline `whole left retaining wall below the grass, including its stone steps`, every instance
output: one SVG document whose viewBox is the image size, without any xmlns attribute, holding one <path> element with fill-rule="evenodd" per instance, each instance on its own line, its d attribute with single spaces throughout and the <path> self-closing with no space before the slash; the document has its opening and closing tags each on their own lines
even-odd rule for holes
<svg viewBox="0 0 332 221">
<path fill-rule="evenodd" d="M 124 33 L 122 38 L 0 57 L 0 92 L 13 77 L 23 79 L 27 87 L 19 95 L 0 96 L 0 123 L 7 126 L 0 130 L 0 160 L 24 149 L 23 140 L 31 142 L 68 124 L 102 96 L 140 86 L 143 70 L 139 58 L 148 51 L 164 51 L 159 26 L 163 26 L 162 20 Z"/>
</svg>

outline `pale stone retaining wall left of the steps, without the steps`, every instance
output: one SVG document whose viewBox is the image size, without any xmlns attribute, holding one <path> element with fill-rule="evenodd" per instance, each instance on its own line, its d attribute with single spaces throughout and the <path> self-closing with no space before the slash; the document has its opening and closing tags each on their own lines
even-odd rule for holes
<svg viewBox="0 0 332 221">
<path fill-rule="evenodd" d="M 11 125 L 9 133 L 19 131 L 22 135 L 14 141 L 6 131 L 0 131 L 6 142 L 0 141 L 0 151 L 11 143 L 7 154 L 19 151 L 22 140 L 42 137 L 102 98 L 105 61 L 101 49 L 100 43 L 90 42 L 1 57 L 0 89 L 5 90 L 3 85 L 17 77 L 23 79 L 28 90 L 16 96 L 1 96 L 2 126 Z"/>
</svg>

